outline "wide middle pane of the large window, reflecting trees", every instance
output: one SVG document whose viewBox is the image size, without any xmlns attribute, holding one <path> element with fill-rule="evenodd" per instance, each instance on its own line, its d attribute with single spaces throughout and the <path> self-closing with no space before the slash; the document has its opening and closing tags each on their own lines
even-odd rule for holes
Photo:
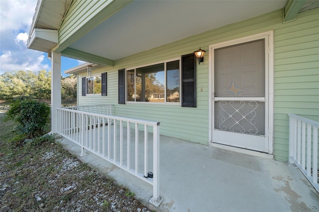
<svg viewBox="0 0 319 212">
<path fill-rule="evenodd" d="M 136 101 L 164 102 L 164 63 L 136 69 Z"/>
</svg>

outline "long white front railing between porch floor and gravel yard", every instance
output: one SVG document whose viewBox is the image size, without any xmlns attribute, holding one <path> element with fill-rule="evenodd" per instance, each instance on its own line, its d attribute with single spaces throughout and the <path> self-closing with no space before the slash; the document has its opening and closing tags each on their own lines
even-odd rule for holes
<svg viewBox="0 0 319 212">
<path fill-rule="evenodd" d="M 57 108 L 58 133 L 80 145 L 81 155 L 86 149 L 153 185 L 150 203 L 158 207 L 162 202 L 160 122 L 80 111 L 78 108 Z M 149 136 L 151 134 L 153 139 Z"/>
</svg>

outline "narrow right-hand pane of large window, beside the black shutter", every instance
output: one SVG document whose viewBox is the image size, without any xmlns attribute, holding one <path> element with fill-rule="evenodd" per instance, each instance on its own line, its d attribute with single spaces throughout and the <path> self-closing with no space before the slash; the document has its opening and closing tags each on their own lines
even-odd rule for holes
<svg viewBox="0 0 319 212">
<path fill-rule="evenodd" d="M 179 103 L 179 61 L 166 63 L 166 102 Z"/>
</svg>

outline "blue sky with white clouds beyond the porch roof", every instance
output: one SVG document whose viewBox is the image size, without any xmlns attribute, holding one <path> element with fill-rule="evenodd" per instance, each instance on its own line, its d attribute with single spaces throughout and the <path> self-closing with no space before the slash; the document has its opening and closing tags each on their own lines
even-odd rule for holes
<svg viewBox="0 0 319 212">
<path fill-rule="evenodd" d="M 11 71 L 51 70 L 47 53 L 27 49 L 32 18 L 37 0 L 0 0 L 0 75 Z M 61 72 L 84 63 L 61 58 Z"/>
</svg>

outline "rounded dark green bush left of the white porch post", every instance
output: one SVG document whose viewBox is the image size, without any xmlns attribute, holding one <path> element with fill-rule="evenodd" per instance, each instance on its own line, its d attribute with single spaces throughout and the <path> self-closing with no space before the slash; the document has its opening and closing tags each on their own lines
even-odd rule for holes
<svg viewBox="0 0 319 212">
<path fill-rule="evenodd" d="M 15 101 L 5 113 L 4 120 L 14 120 L 14 131 L 34 138 L 43 134 L 49 121 L 50 106 L 34 100 Z"/>
</svg>

